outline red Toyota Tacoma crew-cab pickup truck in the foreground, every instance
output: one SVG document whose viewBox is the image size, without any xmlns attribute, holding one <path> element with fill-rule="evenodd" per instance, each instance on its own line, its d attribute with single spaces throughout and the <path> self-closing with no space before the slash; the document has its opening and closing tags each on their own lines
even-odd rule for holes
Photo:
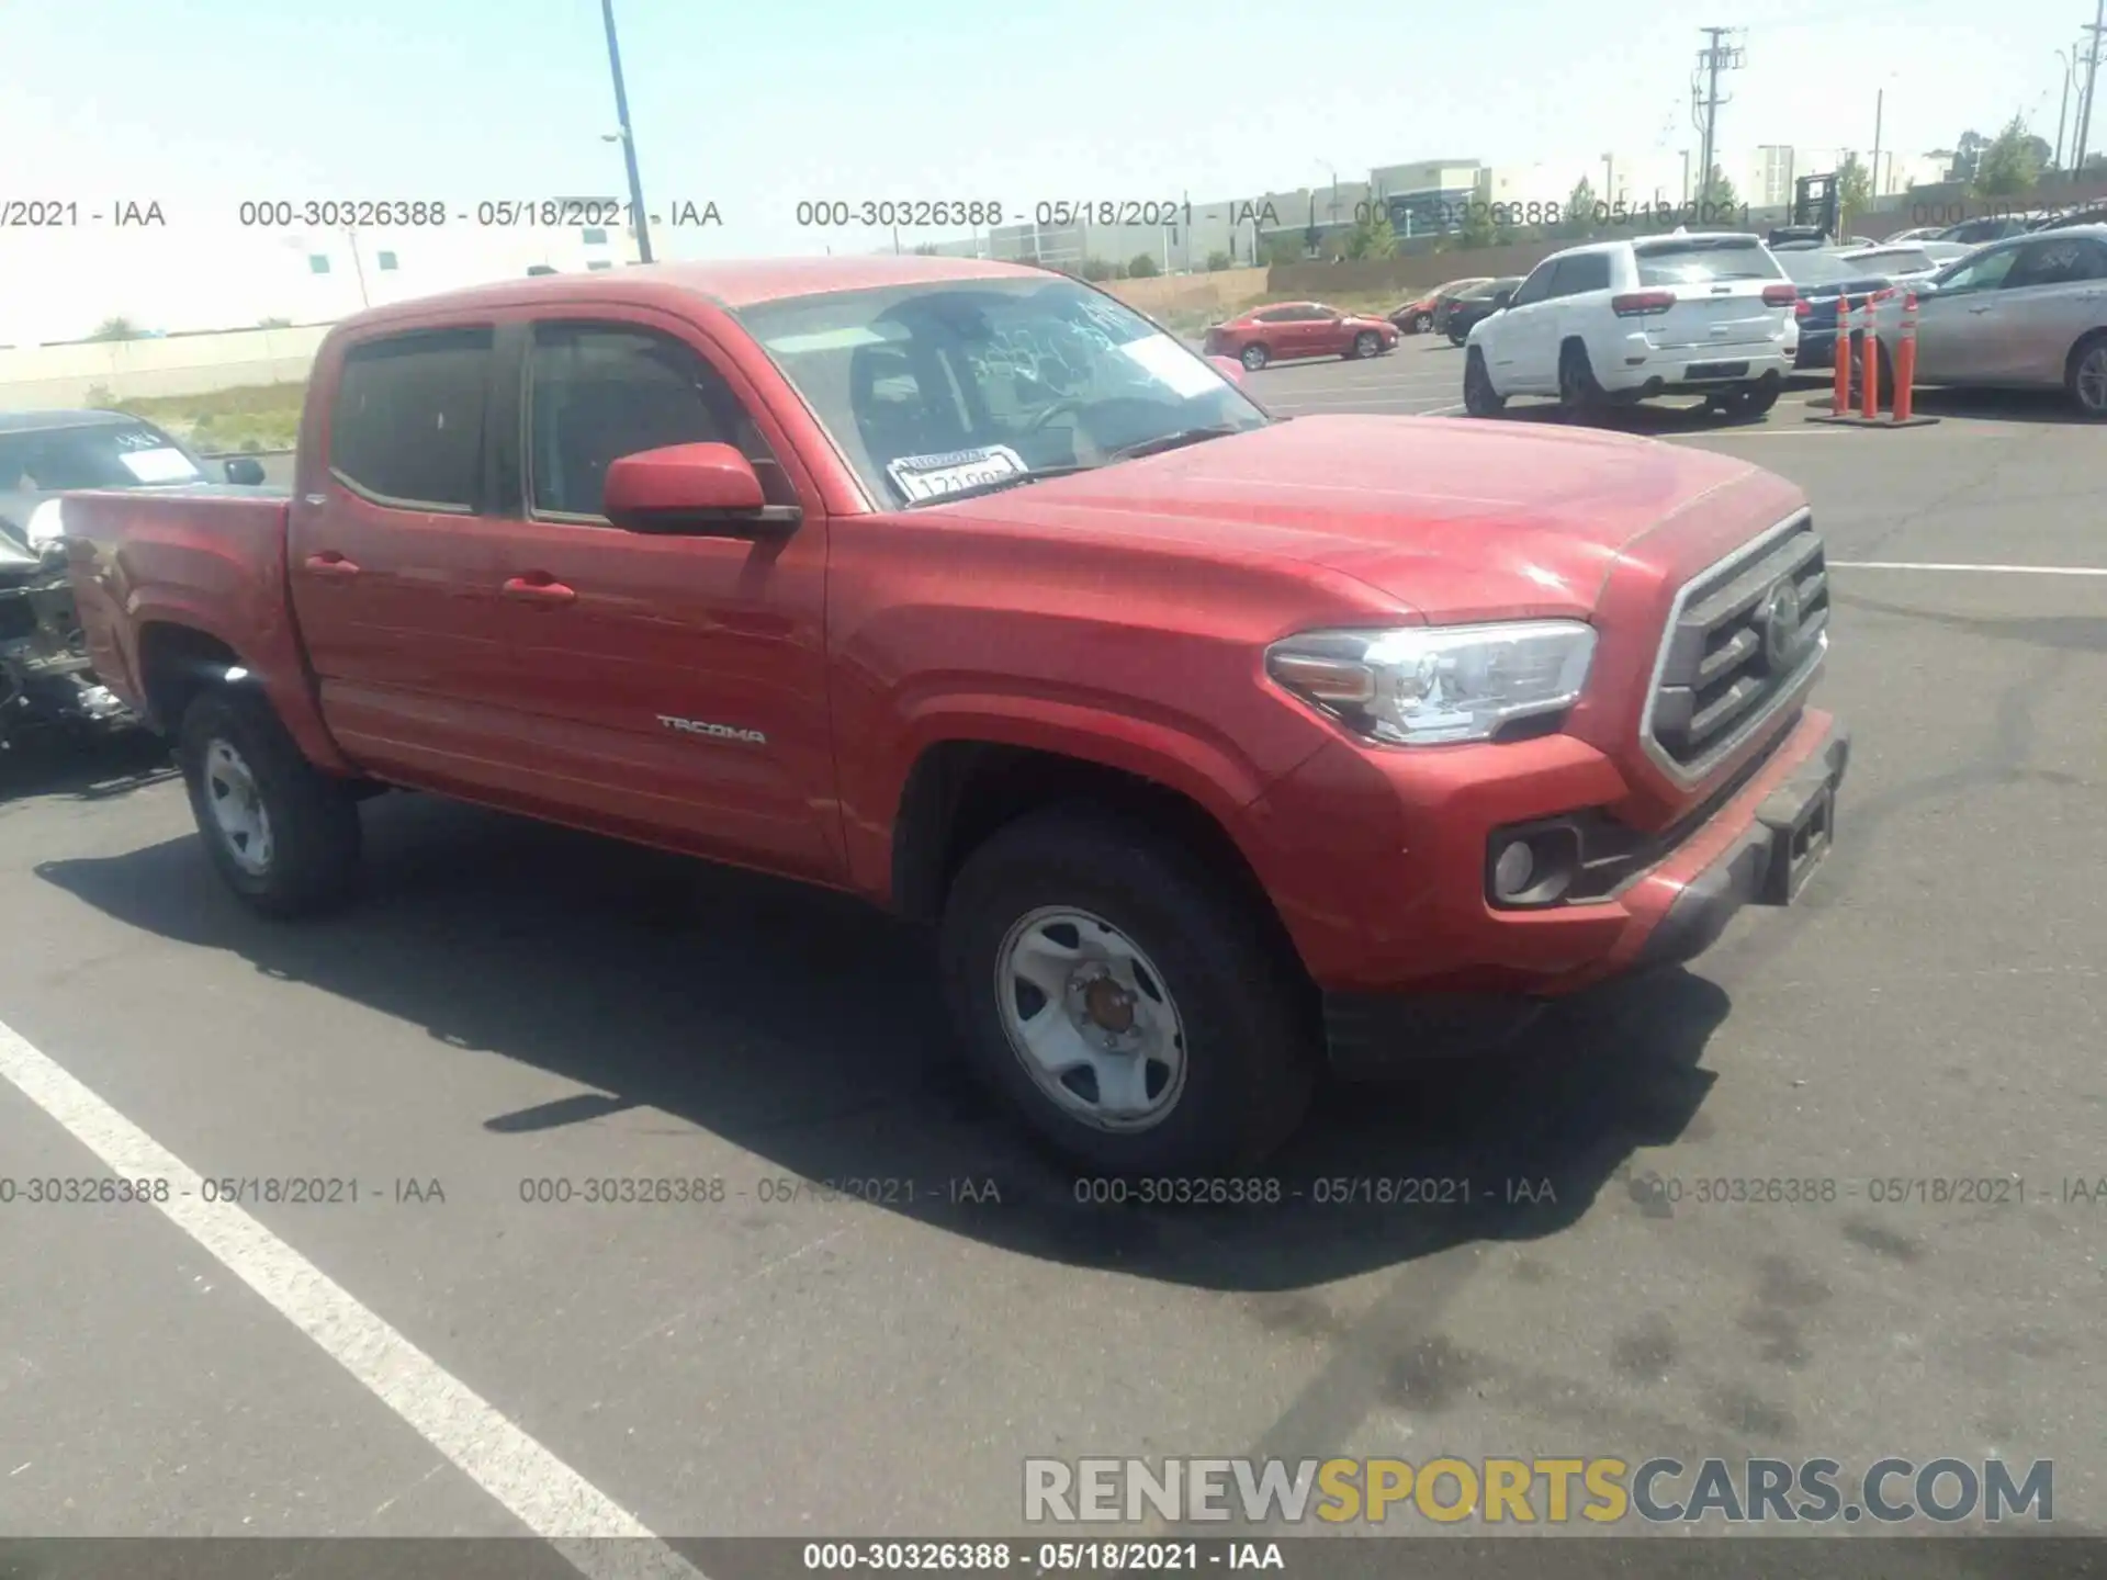
<svg viewBox="0 0 2107 1580">
<path fill-rule="evenodd" d="M 1247 1165 L 1327 1058 L 1787 904 L 1848 754 L 1778 476 L 1275 419 L 1024 265 L 377 308 L 320 350 L 291 497 L 78 493 L 63 533 L 259 910 L 343 900 L 381 788 L 849 891 L 933 925 L 976 1066 L 1106 1171 Z"/>
</svg>

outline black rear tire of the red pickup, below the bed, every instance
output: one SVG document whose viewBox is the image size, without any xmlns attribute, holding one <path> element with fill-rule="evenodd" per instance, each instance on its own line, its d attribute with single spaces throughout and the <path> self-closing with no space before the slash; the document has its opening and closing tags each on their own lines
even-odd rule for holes
<svg viewBox="0 0 2107 1580">
<path fill-rule="evenodd" d="M 225 832 L 215 801 L 232 790 L 219 748 L 244 769 L 265 828 L 261 866 L 238 851 L 255 851 Z M 343 904 L 358 881 L 358 805 L 350 786 L 318 771 L 278 723 L 263 697 L 249 691 L 206 691 L 183 714 L 177 761 L 190 788 L 213 866 L 228 887 L 265 916 L 308 916 Z"/>
</svg>

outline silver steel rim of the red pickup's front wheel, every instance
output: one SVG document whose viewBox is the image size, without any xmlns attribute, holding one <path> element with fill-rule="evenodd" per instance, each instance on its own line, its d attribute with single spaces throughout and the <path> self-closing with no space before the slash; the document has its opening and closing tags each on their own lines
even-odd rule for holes
<svg viewBox="0 0 2107 1580">
<path fill-rule="evenodd" d="M 1072 1119 L 1163 1123 L 1186 1079 L 1184 1022 L 1163 973 L 1102 916 L 1041 906 L 995 952 L 995 1001 L 1018 1064 Z"/>
</svg>

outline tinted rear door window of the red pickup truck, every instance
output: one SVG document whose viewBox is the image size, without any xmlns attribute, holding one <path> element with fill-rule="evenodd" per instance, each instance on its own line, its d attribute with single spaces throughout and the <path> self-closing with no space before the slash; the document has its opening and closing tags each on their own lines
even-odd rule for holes
<svg viewBox="0 0 2107 1580">
<path fill-rule="evenodd" d="M 483 497 L 489 377 L 489 329 L 417 331 L 354 345 L 329 415 L 329 470 L 379 503 L 474 512 Z"/>
</svg>

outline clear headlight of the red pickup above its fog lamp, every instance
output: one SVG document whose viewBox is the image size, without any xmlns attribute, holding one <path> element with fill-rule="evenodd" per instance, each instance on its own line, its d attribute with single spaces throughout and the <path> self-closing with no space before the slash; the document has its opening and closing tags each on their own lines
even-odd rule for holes
<svg viewBox="0 0 2107 1580">
<path fill-rule="evenodd" d="M 1268 647 L 1266 674 L 1367 739 L 1443 746 L 1570 708 L 1593 659 L 1593 626 L 1517 619 L 1308 632 Z"/>
</svg>

